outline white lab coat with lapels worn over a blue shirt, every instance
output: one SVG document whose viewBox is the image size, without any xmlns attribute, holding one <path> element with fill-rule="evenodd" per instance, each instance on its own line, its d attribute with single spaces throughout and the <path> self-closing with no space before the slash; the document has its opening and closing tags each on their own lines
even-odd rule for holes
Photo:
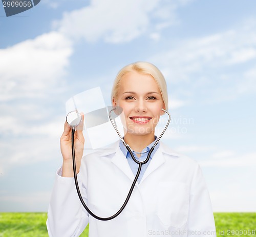
<svg viewBox="0 0 256 237">
<path fill-rule="evenodd" d="M 58 172 L 61 175 L 61 168 Z M 123 212 L 110 221 L 88 215 L 78 199 L 74 179 L 59 175 L 48 211 L 50 237 L 79 236 L 88 223 L 90 237 L 216 236 L 210 198 L 198 163 L 163 143 Z M 133 180 L 119 141 L 82 158 L 80 190 L 97 216 L 116 213 Z"/>
</svg>

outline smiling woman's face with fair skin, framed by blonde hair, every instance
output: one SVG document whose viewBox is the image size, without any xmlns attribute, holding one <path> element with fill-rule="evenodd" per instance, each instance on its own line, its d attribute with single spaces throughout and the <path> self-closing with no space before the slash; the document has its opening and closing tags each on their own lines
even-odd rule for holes
<svg viewBox="0 0 256 237">
<path fill-rule="evenodd" d="M 164 102 L 155 79 L 148 74 L 130 72 L 120 81 L 118 98 L 113 106 L 123 109 L 127 133 L 154 134 Z"/>
</svg>

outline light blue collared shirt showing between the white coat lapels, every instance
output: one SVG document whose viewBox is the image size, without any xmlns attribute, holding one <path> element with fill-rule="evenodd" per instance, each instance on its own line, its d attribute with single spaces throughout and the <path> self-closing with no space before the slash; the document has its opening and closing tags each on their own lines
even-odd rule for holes
<svg viewBox="0 0 256 237">
<path fill-rule="evenodd" d="M 156 141 L 156 139 L 157 139 L 157 137 L 155 136 L 155 141 Z M 138 161 L 144 161 L 147 157 L 147 154 L 148 154 L 150 148 L 154 145 L 155 141 L 153 141 L 151 144 L 149 144 L 148 146 L 146 146 L 142 150 L 141 157 L 137 157 L 137 154 L 135 152 L 133 152 L 133 155 L 134 155 L 135 159 L 138 160 Z M 158 147 L 159 147 L 159 143 L 155 146 L 153 152 L 151 153 L 151 156 L 150 156 L 150 159 L 148 160 L 148 162 L 146 164 L 142 165 L 140 175 L 139 175 L 139 178 L 138 178 L 138 183 L 140 183 L 140 181 L 141 181 L 141 179 L 142 179 L 142 177 L 143 177 L 143 175 L 146 171 L 146 168 L 147 168 L 148 164 L 150 164 L 151 159 L 154 156 L 154 154 L 156 153 Z M 130 155 L 130 153 L 128 152 L 128 150 L 124 146 L 124 144 L 121 142 L 121 140 L 120 140 L 120 149 L 121 149 L 123 155 L 127 158 L 127 161 L 129 163 L 132 171 L 133 171 L 134 176 L 136 176 L 139 165 L 134 162 L 132 156 Z"/>
</svg>

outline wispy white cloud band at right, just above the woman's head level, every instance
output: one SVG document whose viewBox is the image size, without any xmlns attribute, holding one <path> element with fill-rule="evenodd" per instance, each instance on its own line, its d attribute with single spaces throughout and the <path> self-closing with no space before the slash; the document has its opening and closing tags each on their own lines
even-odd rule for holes
<svg viewBox="0 0 256 237">
<path fill-rule="evenodd" d="M 156 55 L 152 59 L 158 61 L 176 82 L 177 79 L 186 81 L 189 74 L 206 67 L 222 67 L 256 58 L 256 33 L 253 29 L 256 29 L 256 24 L 248 32 L 239 29 L 237 32 L 227 31 L 186 40 L 176 46 L 176 49 Z M 244 34 L 251 38 L 249 42 L 245 40 L 245 36 L 241 36 Z"/>
</svg>

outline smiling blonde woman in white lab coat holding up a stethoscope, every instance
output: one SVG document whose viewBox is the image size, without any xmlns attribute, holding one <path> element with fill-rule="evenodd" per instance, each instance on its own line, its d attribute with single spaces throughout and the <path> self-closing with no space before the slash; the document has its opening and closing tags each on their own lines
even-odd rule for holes
<svg viewBox="0 0 256 237">
<path fill-rule="evenodd" d="M 162 109 L 168 106 L 163 75 L 148 62 L 129 64 L 114 81 L 112 103 L 124 112 L 124 141 L 136 159 L 145 160 L 156 139 L 155 127 L 164 114 Z M 83 143 L 78 128 L 76 170 L 83 200 L 97 216 L 110 217 L 122 206 L 138 165 L 120 141 L 82 157 Z M 124 210 L 115 219 L 99 221 L 78 199 L 67 122 L 60 147 L 63 163 L 57 170 L 48 211 L 50 237 L 79 236 L 88 223 L 91 237 L 216 236 L 209 194 L 195 160 L 160 142 L 148 163 L 142 165 Z"/>
</svg>

